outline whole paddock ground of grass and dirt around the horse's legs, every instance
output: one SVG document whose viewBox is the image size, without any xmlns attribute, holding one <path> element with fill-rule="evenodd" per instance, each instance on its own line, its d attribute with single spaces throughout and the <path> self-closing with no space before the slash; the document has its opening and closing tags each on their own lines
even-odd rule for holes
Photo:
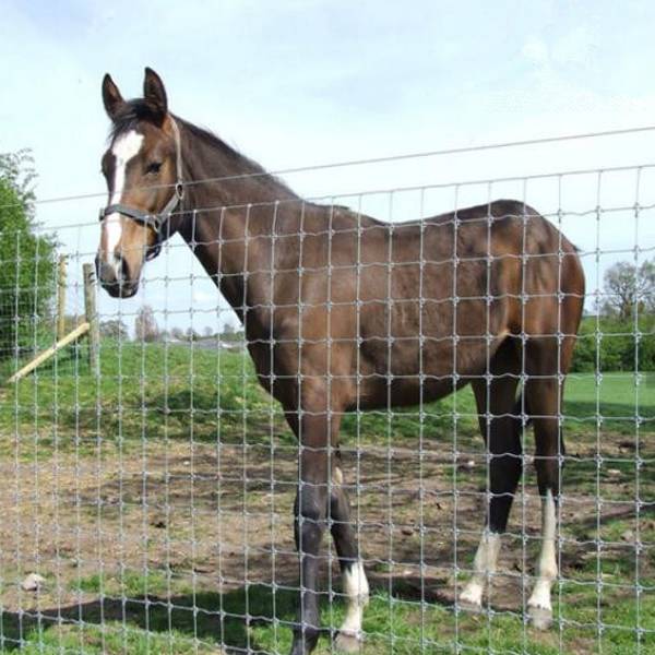
<svg viewBox="0 0 655 655">
<path fill-rule="evenodd" d="M 522 615 L 540 521 L 532 466 L 488 611 L 453 606 L 487 476 L 471 392 L 427 405 L 422 421 L 415 408 L 345 418 L 374 592 L 366 655 L 628 654 L 638 640 L 655 653 L 655 374 L 567 384 L 562 571 L 547 633 Z M 70 350 L 2 391 L 0 443 L 3 650 L 286 655 L 296 446 L 247 357 L 104 342 L 94 380 L 84 350 Z M 19 585 L 33 571 L 47 580 L 38 595 Z M 324 588 L 335 596 L 323 621 L 336 628 L 337 576 L 325 573 Z M 317 652 L 331 652 L 327 636 Z"/>
</svg>

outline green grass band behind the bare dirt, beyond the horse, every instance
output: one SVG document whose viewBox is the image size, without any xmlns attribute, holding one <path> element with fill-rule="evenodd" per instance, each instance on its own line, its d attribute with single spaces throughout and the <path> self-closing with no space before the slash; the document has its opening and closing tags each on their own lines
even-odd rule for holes
<svg viewBox="0 0 655 655">
<path fill-rule="evenodd" d="M 38 436 L 41 454 L 58 446 L 84 448 L 97 440 L 133 442 L 151 434 L 227 443 L 294 441 L 278 405 L 259 386 L 250 358 L 239 353 L 186 346 L 103 342 L 98 380 L 90 376 L 84 349 L 68 350 L 4 390 L 0 433 Z M 575 373 L 567 382 L 565 424 L 587 434 L 612 430 L 634 434 L 655 426 L 655 373 Z M 347 415 L 344 443 L 384 443 L 449 434 L 453 414 L 463 439 L 477 439 L 469 388 L 415 407 Z M 272 429 L 273 428 L 273 429 Z M 129 445 L 129 443 L 128 443 Z"/>
</svg>

